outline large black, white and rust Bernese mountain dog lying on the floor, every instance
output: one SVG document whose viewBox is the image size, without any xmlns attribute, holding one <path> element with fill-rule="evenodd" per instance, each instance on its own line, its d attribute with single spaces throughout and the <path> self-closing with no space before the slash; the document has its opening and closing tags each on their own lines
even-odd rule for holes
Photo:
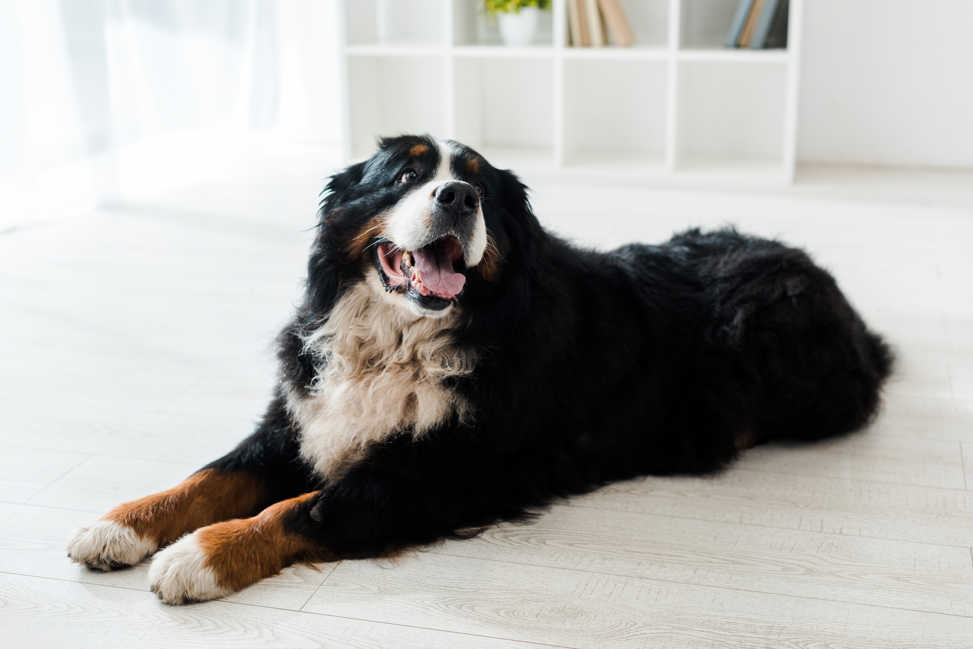
<svg viewBox="0 0 973 649">
<path fill-rule="evenodd" d="M 155 554 L 163 601 L 221 598 L 297 562 L 388 557 L 609 481 L 847 433 L 890 372 L 802 251 L 734 229 L 576 248 L 455 142 L 381 140 L 319 214 L 256 431 L 77 530 L 72 560 Z"/>
</svg>

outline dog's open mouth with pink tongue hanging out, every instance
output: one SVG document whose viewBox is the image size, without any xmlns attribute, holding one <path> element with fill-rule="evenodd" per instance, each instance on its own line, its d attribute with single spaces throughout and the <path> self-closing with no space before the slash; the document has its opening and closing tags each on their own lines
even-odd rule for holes
<svg viewBox="0 0 973 649">
<path fill-rule="evenodd" d="M 386 290 L 413 293 L 423 302 L 455 301 L 466 283 L 463 247 L 452 234 L 417 250 L 380 241 L 375 250 L 378 277 Z M 446 306 L 444 304 L 443 306 Z"/>
</svg>

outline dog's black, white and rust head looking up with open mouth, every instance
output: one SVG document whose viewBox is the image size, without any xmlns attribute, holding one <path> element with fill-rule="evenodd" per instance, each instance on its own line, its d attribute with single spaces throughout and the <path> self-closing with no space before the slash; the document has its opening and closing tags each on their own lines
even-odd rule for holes
<svg viewBox="0 0 973 649">
<path fill-rule="evenodd" d="M 416 316 L 443 316 L 478 283 L 501 280 L 512 237 L 536 222 L 513 174 L 429 136 L 381 140 L 326 192 L 308 288 L 332 294 L 319 303 L 364 280 Z"/>
</svg>

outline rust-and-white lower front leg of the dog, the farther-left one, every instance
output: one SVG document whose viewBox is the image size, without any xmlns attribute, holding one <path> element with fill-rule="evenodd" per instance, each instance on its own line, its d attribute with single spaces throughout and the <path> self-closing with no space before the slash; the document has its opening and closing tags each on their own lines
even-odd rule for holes
<svg viewBox="0 0 973 649">
<path fill-rule="evenodd" d="M 134 565 L 186 532 L 252 516 L 264 481 L 248 471 L 204 468 L 170 490 L 123 503 L 68 541 L 68 557 L 98 570 Z"/>
</svg>

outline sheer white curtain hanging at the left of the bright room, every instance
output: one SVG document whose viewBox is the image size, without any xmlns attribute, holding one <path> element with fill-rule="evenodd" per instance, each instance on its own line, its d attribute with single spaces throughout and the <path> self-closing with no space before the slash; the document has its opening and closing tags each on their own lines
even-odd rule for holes
<svg viewBox="0 0 973 649">
<path fill-rule="evenodd" d="M 0 0 L 0 229 L 339 140 L 335 0 Z"/>
</svg>

